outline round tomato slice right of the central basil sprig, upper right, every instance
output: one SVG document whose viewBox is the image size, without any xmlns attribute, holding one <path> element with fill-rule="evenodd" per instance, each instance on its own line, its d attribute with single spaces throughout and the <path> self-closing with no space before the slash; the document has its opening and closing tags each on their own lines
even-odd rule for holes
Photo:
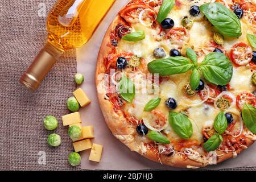
<svg viewBox="0 0 256 182">
<path fill-rule="evenodd" d="M 230 52 L 230 59 L 237 65 L 246 65 L 253 59 L 253 51 L 245 43 L 237 43 Z"/>
</svg>

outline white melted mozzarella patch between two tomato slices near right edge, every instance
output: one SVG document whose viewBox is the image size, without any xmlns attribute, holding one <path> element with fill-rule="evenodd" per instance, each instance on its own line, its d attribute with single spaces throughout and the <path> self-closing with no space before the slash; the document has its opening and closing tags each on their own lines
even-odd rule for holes
<svg viewBox="0 0 256 182">
<path fill-rule="evenodd" d="M 253 75 L 253 72 L 246 67 L 233 68 L 233 76 L 229 85 L 234 89 L 235 93 L 242 91 L 253 92 L 255 86 L 251 84 L 251 75 Z"/>
</svg>

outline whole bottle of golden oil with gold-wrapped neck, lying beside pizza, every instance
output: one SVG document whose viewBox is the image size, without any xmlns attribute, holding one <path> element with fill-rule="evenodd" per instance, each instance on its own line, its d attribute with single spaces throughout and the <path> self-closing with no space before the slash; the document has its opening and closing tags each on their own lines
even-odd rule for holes
<svg viewBox="0 0 256 182">
<path fill-rule="evenodd" d="M 47 17 L 48 39 L 20 82 L 36 90 L 56 60 L 88 42 L 115 0 L 58 0 Z"/>
</svg>

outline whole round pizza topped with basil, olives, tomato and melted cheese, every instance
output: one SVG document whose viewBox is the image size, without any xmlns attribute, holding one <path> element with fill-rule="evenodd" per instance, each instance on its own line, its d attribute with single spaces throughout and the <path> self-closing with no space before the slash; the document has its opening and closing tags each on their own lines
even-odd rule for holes
<svg viewBox="0 0 256 182">
<path fill-rule="evenodd" d="M 256 2 L 133 0 L 106 31 L 98 100 L 147 159 L 199 168 L 256 139 Z"/>
</svg>

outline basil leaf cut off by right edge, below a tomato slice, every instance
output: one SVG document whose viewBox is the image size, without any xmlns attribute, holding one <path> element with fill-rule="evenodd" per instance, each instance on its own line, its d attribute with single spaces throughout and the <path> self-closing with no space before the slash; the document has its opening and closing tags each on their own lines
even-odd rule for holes
<svg viewBox="0 0 256 182">
<path fill-rule="evenodd" d="M 256 134 L 256 108 L 249 104 L 243 105 L 242 118 L 247 129 Z"/>
</svg>

